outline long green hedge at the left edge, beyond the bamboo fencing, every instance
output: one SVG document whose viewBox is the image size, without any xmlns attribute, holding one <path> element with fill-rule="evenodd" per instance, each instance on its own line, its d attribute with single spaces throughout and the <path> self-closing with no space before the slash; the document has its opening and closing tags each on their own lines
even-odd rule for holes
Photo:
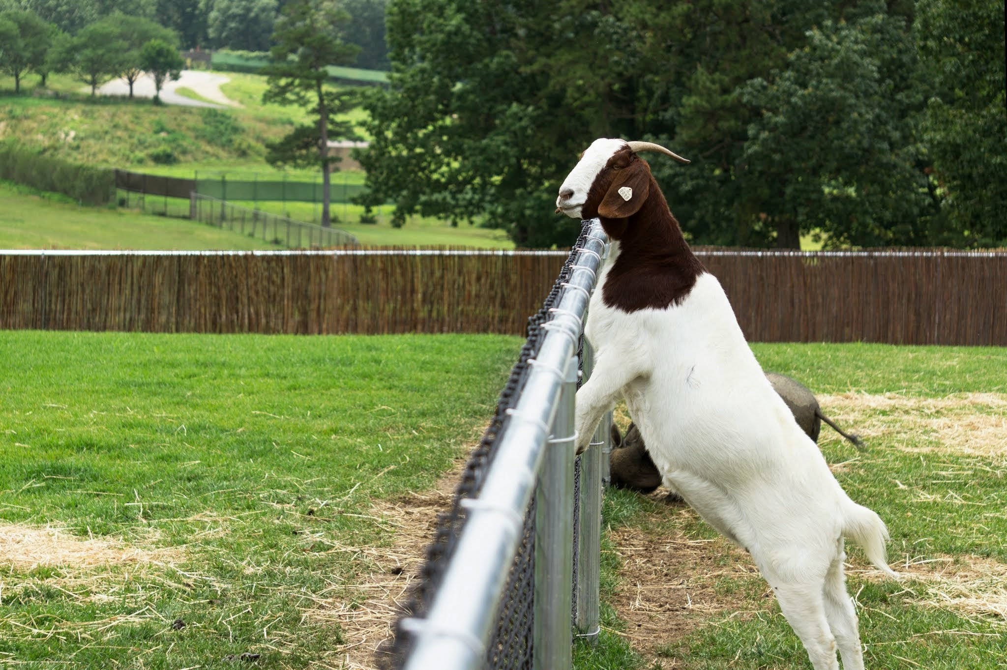
<svg viewBox="0 0 1007 670">
<path fill-rule="evenodd" d="M 0 179 L 40 191 L 62 193 L 89 205 L 115 201 L 114 170 L 76 165 L 46 156 L 41 149 L 0 142 Z"/>
</svg>

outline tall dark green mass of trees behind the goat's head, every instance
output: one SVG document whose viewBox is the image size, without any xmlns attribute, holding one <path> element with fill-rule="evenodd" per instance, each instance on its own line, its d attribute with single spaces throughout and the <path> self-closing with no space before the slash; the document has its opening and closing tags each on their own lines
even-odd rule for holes
<svg viewBox="0 0 1007 670">
<path fill-rule="evenodd" d="M 556 187 L 597 137 L 695 243 L 1007 244 L 999 0 L 390 0 L 370 202 L 564 245 Z"/>
</svg>

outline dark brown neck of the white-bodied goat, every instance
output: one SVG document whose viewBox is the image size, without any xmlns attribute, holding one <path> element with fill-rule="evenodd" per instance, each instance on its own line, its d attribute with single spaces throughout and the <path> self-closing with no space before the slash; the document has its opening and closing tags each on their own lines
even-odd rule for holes
<svg viewBox="0 0 1007 670">
<path fill-rule="evenodd" d="M 601 225 L 619 242 L 619 256 L 602 289 L 610 307 L 626 312 L 670 307 L 684 300 L 696 278 L 706 272 L 689 248 L 654 177 L 636 213 L 627 218 L 601 218 Z"/>
</svg>

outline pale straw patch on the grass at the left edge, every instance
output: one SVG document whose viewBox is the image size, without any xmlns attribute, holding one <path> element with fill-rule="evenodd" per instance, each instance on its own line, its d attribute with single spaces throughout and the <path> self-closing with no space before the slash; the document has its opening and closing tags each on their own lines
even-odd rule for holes
<svg viewBox="0 0 1007 670">
<path fill-rule="evenodd" d="M 0 565 L 18 571 L 39 566 L 90 570 L 103 565 L 175 560 L 173 549 L 143 549 L 111 539 L 84 538 L 64 529 L 27 525 L 0 526 Z"/>
</svg>

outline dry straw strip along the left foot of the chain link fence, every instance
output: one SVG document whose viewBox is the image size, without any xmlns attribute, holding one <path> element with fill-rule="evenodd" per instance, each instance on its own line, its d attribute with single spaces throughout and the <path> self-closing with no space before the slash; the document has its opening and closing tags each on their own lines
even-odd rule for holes
<svg viewBox="0 0 1007 670">
<path fill-rule="evenodd" d="M 369 514 L 395 529 L 391 545 L 341 547 L 356 554 L 366 572 L 353 582 L 333 582 L 312 599 L 305 621 L 338 624 L 344 644 L 340 668 L 374 670 L 379 647 L 391 640 L 396 620 L 423 564 L 424 549 L 437 525 L 437 515 L 451 505 L 463 461 L 445 475 L 436 488 L 410 492 L 394 500 L 378 500 Z M 363 571 L 363 570 L 362 570 Z"/>
</svg>

